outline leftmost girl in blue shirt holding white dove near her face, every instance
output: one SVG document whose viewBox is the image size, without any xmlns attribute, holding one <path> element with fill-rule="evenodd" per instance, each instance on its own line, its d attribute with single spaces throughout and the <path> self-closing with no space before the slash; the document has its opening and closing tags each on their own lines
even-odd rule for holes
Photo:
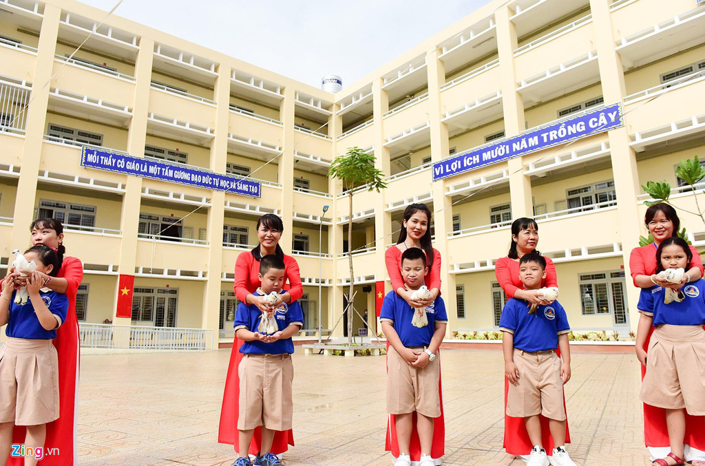
<svg viewBox="0 0 705 466">
<path fill-rule="evenodd" d="M 56 251 L 37 245 L 25 251 L 25 259 L 37 264 L 27 278 L 29 300 L 14 302 L 19 271 L 6 276 L 0 293 L 0 326 L 7 324 L 8 337 L 0 348 L 0 458 L 10 454 L 18 425 L 27 427 L 25 446 L 35 448 L 34 458 L 26 458 L 31 461 L 42 459 L 46 424 L 59 418 L 59 357 L 52 340 L 66 320 L 68 298 L 43 288 L 46 281 L 39 275 L 59 273 Z"/>
</svg>

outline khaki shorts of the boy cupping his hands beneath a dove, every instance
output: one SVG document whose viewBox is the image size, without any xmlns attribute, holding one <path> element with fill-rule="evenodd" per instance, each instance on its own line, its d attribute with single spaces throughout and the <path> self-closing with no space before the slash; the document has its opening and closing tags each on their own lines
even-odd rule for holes
<svg viewBox="0 0 705 466">
<path fill-rule="evenodd" d="M 244 355 L 240 375 L 238 430 L 291 429 L 294 366 L 291 355 Z"/>
</svg>

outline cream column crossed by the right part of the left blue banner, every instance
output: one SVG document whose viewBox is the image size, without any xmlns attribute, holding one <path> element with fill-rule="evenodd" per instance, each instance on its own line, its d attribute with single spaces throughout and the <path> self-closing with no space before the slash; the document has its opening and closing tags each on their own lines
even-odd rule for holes
<svg viewBox="0 0 705 466">
<path fill-rule="evenodd" d="M 228 118 L 230 104 L 229 66 L 221 65 L 216 78 L 214 100 L 216 101 L 215 137 L 211 144 L 210 169 L 226 173 L 228 160 Z M 223 222 L 225 217 L 225 192 L 212 191 L 211 207 L 208 210 L 208 281 L 203 295 L 201 326 L 212 329 L 213 348 L 218 348 L 220 326 L 220 292 L 223 269 Z"/>
</svg>

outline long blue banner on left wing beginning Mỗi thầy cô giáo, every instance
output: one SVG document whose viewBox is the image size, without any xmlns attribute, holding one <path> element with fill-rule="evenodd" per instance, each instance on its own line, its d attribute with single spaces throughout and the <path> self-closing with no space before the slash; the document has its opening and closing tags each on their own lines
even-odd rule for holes
<svg viewBox="0 0 705 466">
<path fill-rule="evenodd" d="M 95 147 L 83 146 L 81 166 L 96 170 L 114 171 L 124 175 L 195 186 L 208 190 L 232 192 L 248 197 L 262 197 L 262 183 L 240 176 L 223 175 L 168 161 L 116 154 Z"/>
</svg>

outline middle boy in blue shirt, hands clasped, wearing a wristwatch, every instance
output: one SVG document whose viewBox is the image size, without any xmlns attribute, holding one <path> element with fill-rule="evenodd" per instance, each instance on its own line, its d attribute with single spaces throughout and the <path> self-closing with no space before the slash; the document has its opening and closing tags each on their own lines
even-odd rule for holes
<svg viewBox="0 0 705 466">
<path fill-rule="evenodd" d="M 410 247 L 401 257 L 401 275 L 409 290 L 424 284 L 429 269 L 426 255 L 418 247 Z M 413 415 L 417 412 L 417 431 L 421 445 L 420 466 L 434 466 L 431 443 L 434 418 L 441 415 L 439 377 L 441 367 L 438 350 L 446 333 L 448 315 L 439 296 L 426 307 L 428 324 L 412 325 L 415 309 L 390 291 L 380 312 L 382 331 L 390 343 L 387 353 L 387 412 L 396 415 L 399 457 L 395 466 L 410 466 L 409 455 Z"/>
</svg>

